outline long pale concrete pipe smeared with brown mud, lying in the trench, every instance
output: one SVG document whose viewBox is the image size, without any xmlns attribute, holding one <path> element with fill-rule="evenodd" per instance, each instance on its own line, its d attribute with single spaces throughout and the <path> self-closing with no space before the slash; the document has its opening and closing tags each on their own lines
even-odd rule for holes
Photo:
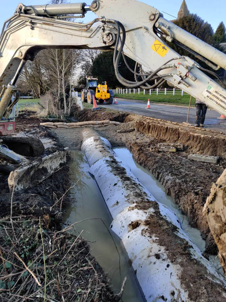
<svg viewBox="0 0 226 302">
<path fill-rule="evenodd" d="M 113 218 L 148 302 L 224 301 L 222 275 L 202 256 L 175 214 L 143 187 L 94 130 L 83 130 L 82 151 Z"/>
</svg>

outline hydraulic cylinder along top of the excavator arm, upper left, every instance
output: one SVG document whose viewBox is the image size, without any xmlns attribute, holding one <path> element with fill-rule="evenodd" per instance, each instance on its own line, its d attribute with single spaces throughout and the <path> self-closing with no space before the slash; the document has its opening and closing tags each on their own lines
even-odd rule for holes
<svg viewBox="0 0 226 302">
<path fill-rule="evenodd" d="M 62 14 L 85 14 L 90 10 L 86 3 L 64 3 L 25 6 L 20 3 L 16 9 L 17 13 L 37 14 L 39 16 L 56 16 Z"/>
</svg>

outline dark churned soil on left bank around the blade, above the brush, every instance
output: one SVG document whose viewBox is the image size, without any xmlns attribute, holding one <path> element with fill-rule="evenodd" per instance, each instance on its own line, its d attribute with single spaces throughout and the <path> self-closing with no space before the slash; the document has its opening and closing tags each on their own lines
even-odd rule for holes
<svg viewBox="0 0 226 302">
<path fill-rule="evenodd" d="M 45 155 L 62 150 L 62 144 L 59 142 L 57 136 L 47 129 L 41 129 L 39 126 L 41 120 L 31 115 L 34 115 L 34 112 L 24 111 L 20 113 L 16 121 L 15 134 L 46 140 L 51 139 L 54 145 L 45 149 Z M 10 142 L 10 138 L 7 140 L 7 137 L 3 137 L 3 140 L 5 140 L 5 143 Z M 30 157 L 30 159 L 34 160 L 35 157 Z M 0 171 L 1 216 L 10 215 L 11 210 L 12 193 L 9 192 L 7 178 L 8 175 Z M 66 165 L 60 171 L 40 182 L 37 186 L 30 186 L 19 192 L 14 192 L 12 197 L 13 215 L 33 215 L 37 218 L 49 215 L 53 224 L 59 228 L 58 224 L 61 221 L 59 210 L 62 201 L 61 197 L 69 188 L 69 183 L 68 166 Z M 67 200 L 68 197 L 65 196 L 63 202 Z"/>
</svg>

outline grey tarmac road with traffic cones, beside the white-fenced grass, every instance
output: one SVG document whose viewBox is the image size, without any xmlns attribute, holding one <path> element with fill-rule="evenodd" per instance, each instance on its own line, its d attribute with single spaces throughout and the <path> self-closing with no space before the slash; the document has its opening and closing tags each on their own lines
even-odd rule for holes
<svg viewBox="0 0 226 302">
<path fill-rule="evenodd" d="M 172 122 L 186 122 L 188 107 L 174 107 L 174 106 L 165 106 L 165 105 L 154 105 L 150 104 L 151 109 L 146 109 L 147 104 L 143 102 L 137 102 L 134 100 L 117 98 L 117 104 L 105 105 L 98 104 L 104 108 L 110 108 L 119 111 L 127 111 L 130 113 L 150 116 L 157 119 L 162 120 L 170 120 Z M 218 120 L 220 114 L 214 110 L 207 109 L 206 119 L 204 125 L 208 128 L 217 128 L 219 131 L 220 128 L 222 130 L 226 130 L 226 120 Z M 191 124 L 195 124 L 196 121 L 196 109 L 190 109 L 188 122 Z"/>
</svg>

